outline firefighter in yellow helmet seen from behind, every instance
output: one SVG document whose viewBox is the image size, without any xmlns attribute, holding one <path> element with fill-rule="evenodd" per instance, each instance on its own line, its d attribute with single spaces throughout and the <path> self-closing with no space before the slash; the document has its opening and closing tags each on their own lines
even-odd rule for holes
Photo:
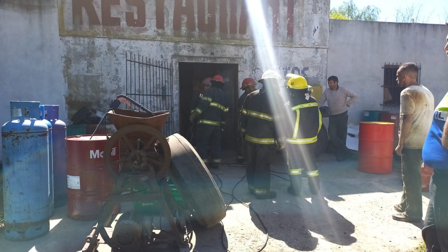
<svg viewBox="0 0 448 252">
<path fill-rule="evenodd" d="M 316 155 L 317 134 L 322 126 L 322 115 L 316 99 L 309 94 L 307 80 L 300 75 L 289 78 L 287 82 L 289 105 L 287 116 L 292 122 L 286 127 L 286 153 L 290 186 L 288 193 L 298 196 L 301 193 L 302 171 L 307 173 L 308 185 L 312 194 L 319 192 L 319 172 Z"/>
</svg>

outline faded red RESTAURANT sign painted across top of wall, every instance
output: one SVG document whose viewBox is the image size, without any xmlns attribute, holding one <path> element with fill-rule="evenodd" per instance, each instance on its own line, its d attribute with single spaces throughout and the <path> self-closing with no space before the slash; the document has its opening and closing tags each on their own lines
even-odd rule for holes
<svg viewBox="0 0 448 252">
<path fill-rule="evenodd" d="M 262 0 L 264 15 L 248 8 L 245 0 L 59 1 L 62 35 L 250 41 L 250 15 L 254 14 L 273 41 L 294 42 L 300 37 L 297 27 L 308 20 L 300 15 L 304 1 L 296 0 Z M 319 22 L 328 22 L 326 12 L 314 14 L 321 18 Z"/>
</svg>

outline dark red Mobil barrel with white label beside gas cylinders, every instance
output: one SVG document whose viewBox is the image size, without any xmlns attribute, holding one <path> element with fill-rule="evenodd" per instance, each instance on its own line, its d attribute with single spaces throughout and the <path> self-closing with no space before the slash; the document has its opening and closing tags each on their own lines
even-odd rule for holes
<svg viewBox="0 0 448 252">
<path fill-rule="evenodd" d="M 103 160 L 107 138 L 105 134 L 77 135 L 65 138 L 67 151 L 68 217 L 75 220 L 95 220 L 109 198 L 114 182 Z M 112 162 L 120 158 L 118 142 L 112 149 Z M 115 169 L 119 171 L 116 162 Z M 118 208 L 118 209 L 117 209 Z M 115 208 L 119 211 L 119 205 Z"/>
</svg>

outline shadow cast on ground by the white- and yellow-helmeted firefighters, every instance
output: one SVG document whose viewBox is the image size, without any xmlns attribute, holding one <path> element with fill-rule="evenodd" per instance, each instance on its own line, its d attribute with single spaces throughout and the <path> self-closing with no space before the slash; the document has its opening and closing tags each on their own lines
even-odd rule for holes
<svg viewBox="0 0 448 252">
<path fill-rule="evenodd" d="M 270 237 L 282 240 L 289 247 L 301 251 L 314 250 L 318 238 L 339 245 L 350 245 L 356 241 L 356 238 L 351 236 L 354 225 L 328 207 L 322 195 L 313 197 L 311 202 L 300 196 L 290 198 L 291 200 L 283 202 L 281 207 L 270 201 L 254 201 L 250 204 L 255 211 L 263 208 L 261 221 Z M 265 232 L 260 219 L 253 211 L 251 219 L 257 228 Z"/>
</svg>

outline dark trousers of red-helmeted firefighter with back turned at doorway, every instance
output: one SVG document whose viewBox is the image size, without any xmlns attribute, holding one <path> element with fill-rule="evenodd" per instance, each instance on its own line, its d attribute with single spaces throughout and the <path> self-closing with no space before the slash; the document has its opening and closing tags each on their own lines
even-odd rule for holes
<svg viewBox="0 0 448 252">
<path fill-rule="evenodd" d="M 196 129 L 197 152 L 204 163 L 218 165 L 221 162 L 221 127 L 198 124 Z M 208 160 L 210 152 L 211 160 Z"/>
</svg>

